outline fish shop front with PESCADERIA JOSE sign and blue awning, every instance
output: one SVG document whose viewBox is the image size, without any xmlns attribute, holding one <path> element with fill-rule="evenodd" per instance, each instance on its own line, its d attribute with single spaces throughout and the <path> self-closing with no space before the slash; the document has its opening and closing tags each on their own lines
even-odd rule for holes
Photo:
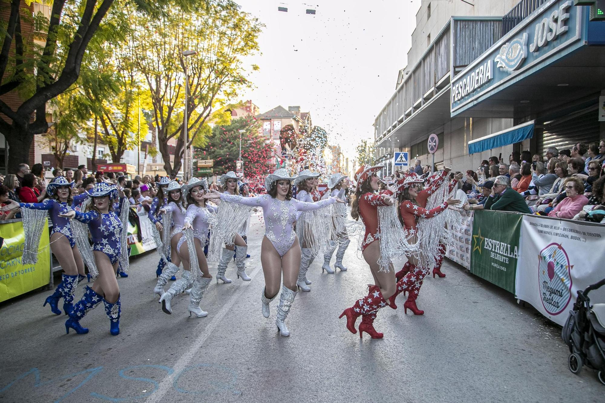
<svg viewBox="0 0 605 403">
<path fill-rule="evenodd" d="M 469 142 L 469 154 L 516 144 L 545 155 L 549 146 L 598 142 L 604 38 L 605 22 L 590 22 L 588 7 L 551 0 L 469 64 L 451 84 L 451 117 L 514 122 Z"/>
</svg>

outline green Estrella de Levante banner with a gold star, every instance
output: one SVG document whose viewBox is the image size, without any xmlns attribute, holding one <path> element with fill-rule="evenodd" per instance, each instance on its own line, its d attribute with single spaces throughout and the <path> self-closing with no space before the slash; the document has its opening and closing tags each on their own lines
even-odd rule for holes
<svg viewBox="0 0 605 403">
<path fill-rule="evenodd" d="M 476 211 L 471 273 L 514 293 L 523 215 Z"/>
</svg>

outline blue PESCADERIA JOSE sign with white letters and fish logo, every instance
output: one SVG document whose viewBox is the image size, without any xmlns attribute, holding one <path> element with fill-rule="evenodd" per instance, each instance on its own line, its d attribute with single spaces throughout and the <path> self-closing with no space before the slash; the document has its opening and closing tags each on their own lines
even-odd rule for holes
<svg viewBox="0 0 605 403">
<path fill-rule="evenodd" d="M 550 0 L 459 73 L 451 84 L 451 116 L 582 45 L 583 8 Z"/>
</svg>

